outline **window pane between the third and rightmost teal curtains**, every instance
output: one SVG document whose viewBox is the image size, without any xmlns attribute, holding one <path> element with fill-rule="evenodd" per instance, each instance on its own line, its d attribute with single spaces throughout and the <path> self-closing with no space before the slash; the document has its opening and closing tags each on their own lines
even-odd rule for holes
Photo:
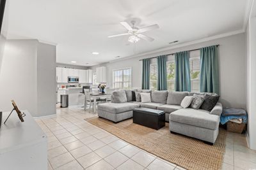
<svg viewBox="0 0 256 170">
<path fill-rule="evenodd" d="M 191 92 L 200 91 L 200 57 L 190 58 Z"/>
</svg>

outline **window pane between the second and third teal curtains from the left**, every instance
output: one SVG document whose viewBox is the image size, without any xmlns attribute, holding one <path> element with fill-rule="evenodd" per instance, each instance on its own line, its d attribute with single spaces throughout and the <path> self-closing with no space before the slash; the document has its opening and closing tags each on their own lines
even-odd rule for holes
<svg viewBox="0 0 256 170">
<path fill-rule="evenodd" d="M 174 91 L 175 89 L 175 62 L 169 61 L 166 62 L 166 71 L 167 71 L 167 89 Z"/>
</svg>

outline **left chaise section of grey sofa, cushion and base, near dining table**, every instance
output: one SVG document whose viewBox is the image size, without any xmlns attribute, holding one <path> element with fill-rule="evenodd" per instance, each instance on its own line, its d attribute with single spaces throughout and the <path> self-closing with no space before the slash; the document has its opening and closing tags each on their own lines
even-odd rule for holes
<svg viewBox="0 0 256 170">
<path fill-rule="evenodd" d="M 139 107 L 136 103 L 102 103 L 98 105 L 98 115 L 116 123 L 132 118 L 132 110 Z"/>
</svg>

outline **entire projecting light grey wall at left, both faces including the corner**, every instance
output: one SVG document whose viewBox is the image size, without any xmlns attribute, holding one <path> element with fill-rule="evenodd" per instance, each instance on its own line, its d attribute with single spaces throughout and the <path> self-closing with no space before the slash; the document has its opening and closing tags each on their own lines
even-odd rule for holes
<svg viewBox="0 0 256 170">
<path fill-rule="evenodd" d="M 20 110 L 28 110 L 33 117 L 55 114 L 55 76 L 55 46 L 34 39 L 6 40 L 0 71 L 0 110 L 12 110 L 14 99 Z"/>
</svg>

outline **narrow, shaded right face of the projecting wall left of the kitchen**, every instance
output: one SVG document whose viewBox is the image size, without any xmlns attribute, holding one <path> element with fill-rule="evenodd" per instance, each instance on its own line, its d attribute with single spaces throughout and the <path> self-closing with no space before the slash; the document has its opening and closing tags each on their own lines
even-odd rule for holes
<svg viewBox="0 0 256 170">
<path fill-rule="evenodd" d="M 56 46 L 37 46 L 37 116 L 56 113 Z"/>
</svg>

